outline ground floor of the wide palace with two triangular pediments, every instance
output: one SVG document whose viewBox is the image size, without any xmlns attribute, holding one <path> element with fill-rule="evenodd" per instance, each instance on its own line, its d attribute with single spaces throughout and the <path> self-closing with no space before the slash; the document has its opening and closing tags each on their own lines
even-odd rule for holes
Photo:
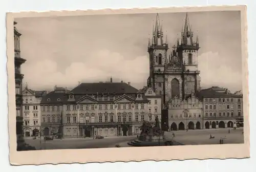
<svg viewBox="0 0 256 172">
<path fill-rule="evenodd" d="M 140 134 L 140 126 L 142 123 L 136 124 L 104 124 L 91 123 L 79 125 L 64 125 L 63 138 L 86 138 L 96 136 L 134 136 Z"/>
</svg>

